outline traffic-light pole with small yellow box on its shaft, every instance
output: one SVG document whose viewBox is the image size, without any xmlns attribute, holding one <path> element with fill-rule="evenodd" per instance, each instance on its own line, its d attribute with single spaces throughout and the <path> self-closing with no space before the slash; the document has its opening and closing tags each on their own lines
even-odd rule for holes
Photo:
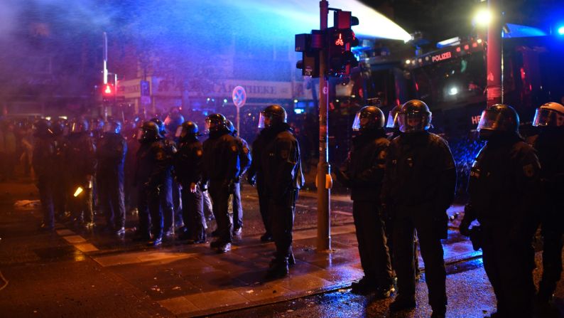
<svg viewBox="0 0 564 318">
<path fill-rule="evenodd" d="M 329 2 L 319 1 L 320 28 L 327 30 L 327 15 L 329 14 Z M 326 76 L 327 48 L 322 48 L 319 53 L 319 163 L 318 163 L 318 251 L 330 250 L 330 199 L 331 199 L 331 174 L 327 152 L 329 129 L 327 129 L 327 116 L 329 115 L 329 81 Z"/>
</svg>

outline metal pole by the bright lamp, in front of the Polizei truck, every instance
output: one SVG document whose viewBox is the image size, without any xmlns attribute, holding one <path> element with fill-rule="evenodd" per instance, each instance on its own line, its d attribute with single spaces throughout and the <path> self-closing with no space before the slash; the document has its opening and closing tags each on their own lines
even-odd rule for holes
<svg viewBox="0 0 564 318">
<path fill-rule="evenodd" d="M 489 0 L 492 15 L 487 30 L 487 108 L 501 103 L 501 10 L 499 0 Z"/>
</svg>

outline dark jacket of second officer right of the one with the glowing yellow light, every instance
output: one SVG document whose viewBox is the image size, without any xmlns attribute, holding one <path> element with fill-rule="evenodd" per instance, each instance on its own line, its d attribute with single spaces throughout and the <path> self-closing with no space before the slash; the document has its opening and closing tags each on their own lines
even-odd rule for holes
<svg viewBox="0 0 564 318">
<path fill-rule="evenodd" d="M 136 154 L 134 185 L 148 186 L 150 189 L 162 186 L 171 164 L 162 139 L 141 142 Z"/>
</svg>

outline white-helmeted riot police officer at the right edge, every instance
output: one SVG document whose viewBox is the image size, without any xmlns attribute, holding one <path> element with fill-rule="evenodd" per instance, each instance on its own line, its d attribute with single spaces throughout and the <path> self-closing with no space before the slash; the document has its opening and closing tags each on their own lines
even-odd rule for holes
<svg viewBox="0 0 564 318">
<path fill-rule="evenodd" d="M 548 304 L 562 272 L 564 227 L 564 106 L 548 102 L 536 110 L 533 126 L 539 134 L 533 142 L 541 162 L 541 234 L 543 235 L 543 276 L 537 299 Z"/>
</svg>

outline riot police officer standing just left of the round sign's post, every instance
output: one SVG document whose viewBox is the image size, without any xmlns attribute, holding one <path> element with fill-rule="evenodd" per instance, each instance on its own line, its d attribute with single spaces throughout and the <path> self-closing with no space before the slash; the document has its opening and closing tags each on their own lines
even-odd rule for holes
<svg viewBox="0 0 564 318">
<path fill-rule="evenodd" d="M 217 240 L 210 247 L 219 253 L 231 250 L 233 222 L 229 216 L 229 196 L 234 194 L 235 179 L 239 176 L 239 147 L 229 134 L 227 119 L 221 114 L 206 117 L 206 131 L 210 137 L 204 142 L 203 183 L 209 181 L 213 213 L 217 222 Z"/>
</svg>

